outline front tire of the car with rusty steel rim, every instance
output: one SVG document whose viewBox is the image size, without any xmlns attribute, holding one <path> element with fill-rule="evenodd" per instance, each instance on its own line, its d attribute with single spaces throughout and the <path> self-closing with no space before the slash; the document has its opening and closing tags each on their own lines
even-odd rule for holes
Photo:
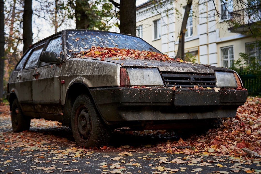
<svg viewBox="0 0 261 174">
<path fill-rule="evenodd" d="M 111 130 L 86 94 L 79 95 L 73 104 L 71 125 L 78 146 L 101 147 L 110 140 Z"/>
</svg>

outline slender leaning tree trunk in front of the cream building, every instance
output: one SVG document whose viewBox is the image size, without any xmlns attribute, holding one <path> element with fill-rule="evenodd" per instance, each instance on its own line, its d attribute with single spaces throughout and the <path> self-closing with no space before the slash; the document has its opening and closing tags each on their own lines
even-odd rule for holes
<svg viewBox="0 0 261 174">
<path fill-rule="evenodd" d="M 185 44 L 184 38 L 185 38 L 186 26 L 187 26 L 187 21 L 188 21 L 191 5 L 192 5 L 192 0 L 188 0 L 186 8 L 185 8 L 185 13 L 184 13 L 184 17 L 182 20 L 182 24 L 181 24 L 181 29 L 180 29 L 179 47 L 178 47 L 177 55 L 175 57 L 175 58 L 180 58 L 182 60 L 184 59 L 184 44 Z"/>
</svg>

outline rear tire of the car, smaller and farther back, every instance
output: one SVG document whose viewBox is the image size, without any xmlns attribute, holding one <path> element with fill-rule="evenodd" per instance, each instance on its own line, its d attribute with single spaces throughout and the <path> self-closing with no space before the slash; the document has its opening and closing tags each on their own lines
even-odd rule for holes
<svg viewBox="0 0 261 174">
<path fill-rule="evenodd" d="M 12 104 L 11 120 L 14 132 L 22 132 L 29 130 L 31 118 L 23 115 L 18 99 L 16 98 Z"/>
</svg>

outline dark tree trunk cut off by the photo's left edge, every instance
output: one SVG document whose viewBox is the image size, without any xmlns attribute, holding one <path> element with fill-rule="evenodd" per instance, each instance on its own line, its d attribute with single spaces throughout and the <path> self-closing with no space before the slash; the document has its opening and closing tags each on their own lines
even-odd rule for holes
<svg viewBox="0 0 261 174">
<path fill-rule="evenodd" d="M 3 101 L 4 87 L 4 0 L 0 0 L 0 103 Z"/>
</svg>

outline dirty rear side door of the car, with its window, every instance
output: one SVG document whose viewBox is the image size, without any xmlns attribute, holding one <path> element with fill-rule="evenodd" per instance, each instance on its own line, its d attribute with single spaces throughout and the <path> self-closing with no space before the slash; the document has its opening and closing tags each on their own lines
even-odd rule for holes
<svg viewBox="0 0 261 174">
<path fill-rule="evenodd" d="M 25 55 L 29 55 L 25 65 L 19 63 L 16 67 L 16 69 L 21 68 L 21 70 L 18 71 L 16 78 L 16 95 L 24 114 L 32 117 L 38 117 L 38 115 L 35 114 L 35 107 L 33 105 L 32 81 L 37 77 L 35 72 L 44 44 L 45 43 L 40 43 L 39 45 L 34 46 L 32 51 L 28 51 Z M 23 61 L 24 60 L 22 59 L 21 62 Z"/>
</svg>

